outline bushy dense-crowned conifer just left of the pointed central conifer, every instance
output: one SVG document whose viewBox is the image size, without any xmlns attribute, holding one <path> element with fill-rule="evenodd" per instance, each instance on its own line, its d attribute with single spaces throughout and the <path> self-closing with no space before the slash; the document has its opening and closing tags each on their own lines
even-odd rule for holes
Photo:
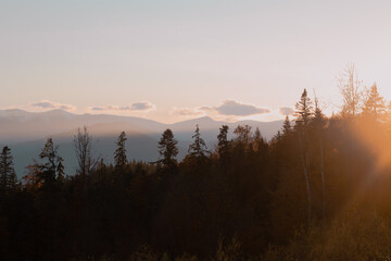
<svg viewBox="0 0 391 261">
<path fill-rule="evenodd" d="M 176 165 L 176 157 L 178 154 L 177 148 L 178 141 L 174 138 L 173 132 L 167 128 L 164 130 L 161 140 L 159 141 L 159 154 L 160 163 L 163 163 L 164 166 Z"/>
</svg>

